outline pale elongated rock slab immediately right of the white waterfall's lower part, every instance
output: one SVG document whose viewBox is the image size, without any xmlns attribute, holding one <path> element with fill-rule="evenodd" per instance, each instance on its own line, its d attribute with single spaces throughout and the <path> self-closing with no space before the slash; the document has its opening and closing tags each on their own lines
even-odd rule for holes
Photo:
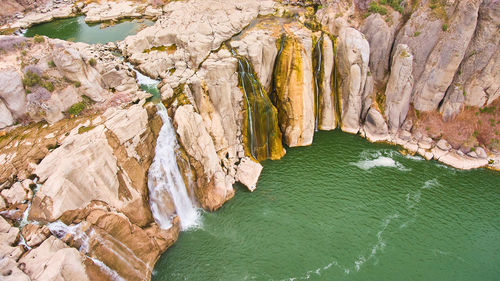
<svg viewBox="0 0 500 281">
<path fill-rule="evenodd" d="M 192 105 L 179 107 L 174 116 L 179 141 L 189 155 L 197 178 L 195 191 L 202 207 L 215 210 L 234 196 L 230 179 L 219 165 L 215 146 L 203 123 L 203 118 Z"/>
</svg>

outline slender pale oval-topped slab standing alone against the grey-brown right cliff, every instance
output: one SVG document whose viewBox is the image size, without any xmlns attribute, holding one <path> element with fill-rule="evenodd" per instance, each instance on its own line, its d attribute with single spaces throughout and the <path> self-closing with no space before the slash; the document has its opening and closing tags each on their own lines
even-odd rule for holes
<svg viewBox="0 0 500 281">
<path fill-rule="evenodd" d="M 385 115 L 391 133 L 396 132 L 403 124 L 410 108 L 413 88 L 413 55 L 404 44 L 396 47 L 392 59 L 391 75 L 385 90 Z"/>
</svg>

